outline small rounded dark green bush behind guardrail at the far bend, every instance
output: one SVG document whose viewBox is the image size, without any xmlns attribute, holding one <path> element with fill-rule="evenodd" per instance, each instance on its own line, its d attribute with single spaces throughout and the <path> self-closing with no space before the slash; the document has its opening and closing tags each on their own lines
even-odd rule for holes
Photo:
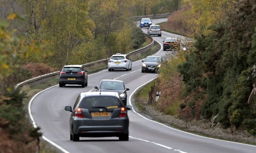
<svg viewBox="0 0 256 153">
<path fill-rule="evenodd" d="M 140 30 L 140 28 L 133 28 L 133 48 L 138 49 L 145 41 L 145 34 Z"/>
</svg>

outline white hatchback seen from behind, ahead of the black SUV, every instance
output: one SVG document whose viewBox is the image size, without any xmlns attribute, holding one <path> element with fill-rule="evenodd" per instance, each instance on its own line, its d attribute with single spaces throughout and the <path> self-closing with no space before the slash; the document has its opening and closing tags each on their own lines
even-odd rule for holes
<svg viewBox="0 0 256 153">
<path fill-rule="evenodd" d="M 109 71 L 125 69 L 126 71 L 132 70 L 132 61 L 126 54 L 116 53 L 112 55 L 108 63 Z"/>
</svg>

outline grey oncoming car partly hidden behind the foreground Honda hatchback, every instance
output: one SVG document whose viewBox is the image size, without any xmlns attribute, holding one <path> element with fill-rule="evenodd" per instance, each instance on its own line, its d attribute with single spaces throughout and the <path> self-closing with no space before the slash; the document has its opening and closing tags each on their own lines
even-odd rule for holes
<svg viewBox="0 0 256 153">
<path fill-rule="evenodd" d="M 100 81 L 99 86 L 95 86 L 96 91 L 107 91 L 107 92 L 117 92 L 119 93 L 121 100 L 123 101 L 123 104 L 126 106 L 127 104 L 127 92 L 130 90 L 129 88 L 126 88 L 124 86 L 123 81 L 120 80 L 102 80 Z"/>
</svg>

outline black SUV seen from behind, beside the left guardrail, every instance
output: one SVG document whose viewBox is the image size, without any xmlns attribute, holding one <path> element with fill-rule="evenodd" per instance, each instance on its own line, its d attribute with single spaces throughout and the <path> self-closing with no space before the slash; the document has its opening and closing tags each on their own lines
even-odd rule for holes
<svg viewBox="0 0 256 153">
<path fill-rule="evenodd" d="M 59 87 L 66 84 L 88 86 L 88 70 L 83 71 L 82 65 L 65 65 L 59 74 Z"/>
</svg>

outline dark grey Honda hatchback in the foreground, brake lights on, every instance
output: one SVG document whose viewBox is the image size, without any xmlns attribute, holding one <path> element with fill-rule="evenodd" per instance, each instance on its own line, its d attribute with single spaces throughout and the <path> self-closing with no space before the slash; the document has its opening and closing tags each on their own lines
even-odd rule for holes
<svg viewBox="0 0 256 153">
<path fill-rule="evenodd" d="M 119 137 L 129 140 L 129 118 L 127 110 L 116 92 L 88 92 L 78 95 L 70 111 L 70 140 L 79 141 L 79 137 Z"/>
</svg>

